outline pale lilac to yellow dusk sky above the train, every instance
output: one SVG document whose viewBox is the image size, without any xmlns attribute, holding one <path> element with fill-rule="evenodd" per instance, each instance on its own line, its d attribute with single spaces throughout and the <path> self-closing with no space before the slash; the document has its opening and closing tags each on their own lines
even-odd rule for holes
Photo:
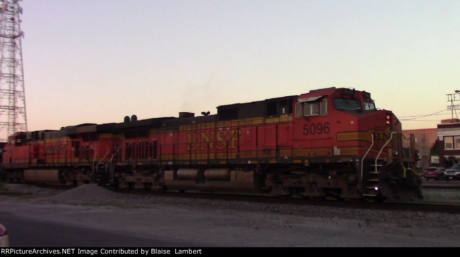
<svg viewBox="0 0 460 257">
<path fill-rule="evenodd" d="M 215 114 L 219 105 L 332 86 L 370 92 L 403 129 L 460 116 L 446 107 L 446 95 L 460 90 L 459 0 L 20 6 L 29 131 Z"/>
</svg>

